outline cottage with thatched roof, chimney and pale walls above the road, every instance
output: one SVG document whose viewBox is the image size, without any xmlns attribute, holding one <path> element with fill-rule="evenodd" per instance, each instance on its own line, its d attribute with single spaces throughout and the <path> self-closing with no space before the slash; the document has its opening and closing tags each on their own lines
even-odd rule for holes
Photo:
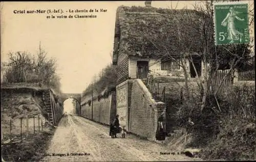
<svg viewBox="0 0 256 162">
<path fill-rule="evenodd" d="M 148 71 L 158 75 L 184 76 L 179 64 L 183 52 L 181 44 L 187 47 L 185 52 L 200 52 L 200 35 L 195 31 L 195 23 L 187 19 L 191 15 L 197 17 L 196 11 L 158 9 L 151 7 L 150 2 L 145 5 L 117 8 L 113 51 L 113 65 L 117 65 L 117 85 L 129 78 L 144 79 Z M 181 33 L 179 36 L 178 32 Z M 195 77 L 194 68 L 188 59 L 183 61 L 187 64 L 189 76 Z M 200 75 L 201 58 L 194 57 L 194 64 Z"/>
</svg>

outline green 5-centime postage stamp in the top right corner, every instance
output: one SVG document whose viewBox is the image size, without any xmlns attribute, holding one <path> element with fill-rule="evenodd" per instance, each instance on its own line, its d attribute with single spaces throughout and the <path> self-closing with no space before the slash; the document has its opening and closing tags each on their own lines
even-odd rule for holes
<svg viewBox="0 0 256 162">
<path fill-rule="evenodd" d="M 248 4 L 214 3 L 215 44 L 249 43 Z"/>
</svg>

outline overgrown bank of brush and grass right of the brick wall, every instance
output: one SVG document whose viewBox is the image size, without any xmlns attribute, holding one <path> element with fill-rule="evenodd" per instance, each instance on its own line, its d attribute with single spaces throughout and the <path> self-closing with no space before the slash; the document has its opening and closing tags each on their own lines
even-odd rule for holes
<svg viewBox="0 0 256 162">
<path fill-rule="evenodd" d="M 173 93 L 173 91 L 171 91 Z M 171 96 L 173 107 L 179 100 Z M 176 93 L 177 95 L 177 93 Z M 183 101 L 174 115 L 192 138 L 186 148 L 198 148 L 204 160 L 255 159 L 255 86 L 236 84 L 216 96 L 208 96 L 201 112 L 196 96 Z M 167 104 L 168 106 L 168 104 Z M 174 112 L 174 111 L 172 111 Z M 193 123 L 193 124 L 191 124 Z M 167 123 L 167 126 L 172 123 Z"/>
</svg>

